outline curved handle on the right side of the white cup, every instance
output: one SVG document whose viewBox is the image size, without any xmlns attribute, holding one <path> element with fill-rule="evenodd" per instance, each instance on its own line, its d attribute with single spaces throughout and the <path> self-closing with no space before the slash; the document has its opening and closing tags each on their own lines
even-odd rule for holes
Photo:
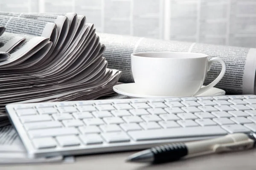
<svg viewBox="0 0 256 170">
<path fill-rule="evenodd" d="M 214 62 L 220 62 L 221 63 L 221 73 L 218 75 L 218 77 L 213 80 L 209 85 L 204 86 L 202 88 L 199 89 L 198 92 L 196 92 L 196 94 L 194 94 L 194 96 L 197 96 L 198 94 L 204 93 L 205 91 L 209 90 L 210 88 L 212 88 L 213 86 L 215 86 L 219 81 L 221 81 L 221 79 L 223 78 L 224 74 L 226 73 L 226 63 L 224 62 L 223 59 L 219 58 L 219 57 L 213 57 L 212 59 L 210 59 L 208 61 L 208 67 L 207 67 L 207 72 L 210 71 L 210 68 L 212 66 L 212 64 Z"/>
</svg>

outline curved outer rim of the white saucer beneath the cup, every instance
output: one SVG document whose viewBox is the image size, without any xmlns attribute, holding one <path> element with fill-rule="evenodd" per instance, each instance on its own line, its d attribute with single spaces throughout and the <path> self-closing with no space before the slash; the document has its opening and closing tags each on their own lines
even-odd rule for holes
<svg viewBox="0 0 256 170">
<path fill-rule="evenodd" d="M 122 83 L 122 84 L 119 84 L 119 85 L 114 85 L 113 86 L 113 91 L 115 91 L 118 94 L 124 95 L 124 96 L 135 97 L 135 98 L 170 98 L 170 97 L 175 97 L 175 96 L 151 96 L 151 95 L 131 94 L 131 93 L 127 93 L 127 92 L 124 92 L 124 91 L 120 91 L 120 90 L 118 90 L 116 88 L 116 87 L 122 86 L 124 84 L 127 85 L 127 84 L 135 84 L 135 83 L 132 82 L 132 83 Z M 203 85 L 202 87 L 204 87 L 204 86 L 205 85 Z M 215 88 L 215 87 L 212 87 L 212 88 Z M 218 89 L 218 90 L 220 90 L 222 92 L 220 92 L 218 94 L 215 94 L 215 95 L 209 95 L 209 96 L 221 96 L 221 95 L 225 95 L 226 94 L 226 91 L 224 91 L 224 90 L 222 90 L 220 88 L 215 88 L 215 89 Z M 200 95 L 198 95 L 198 96 L 190 96 L 190 97 L 199 97 L 199 96 Z M 189 96 L 182 96 L 182 97 L 189 97 Z"/>
</svg>

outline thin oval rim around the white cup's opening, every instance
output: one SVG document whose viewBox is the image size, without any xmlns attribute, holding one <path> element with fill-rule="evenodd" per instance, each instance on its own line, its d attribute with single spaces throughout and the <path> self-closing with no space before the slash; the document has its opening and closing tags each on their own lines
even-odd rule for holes
<svg viewBox="0 0 256 170">
<path fill-rule="evenodd" d="M 194 54 L 194 56 L 172 58 L 172 57 L 150 57 L 150 56 L 147 56 L 147 54 Z M 209 57 L 209 55 L 203 54 L 203 53 L 191 53 L 191 52 L 151 51 L 151 52 L 132 53 L 131 57 L 148 58 L 148 59 L 198 59 L 198 58 Z"/>
</svg>

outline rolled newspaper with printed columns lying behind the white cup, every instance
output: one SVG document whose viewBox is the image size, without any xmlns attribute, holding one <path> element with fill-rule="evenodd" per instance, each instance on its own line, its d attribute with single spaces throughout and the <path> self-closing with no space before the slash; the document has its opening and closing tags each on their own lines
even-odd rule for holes
<svg viewBox="0 0 256 170">
<path fill-rule="evenodd" d="M 131 74 L 131 54 L 149 51 L 179 51 L 208 54 L 221 57 L 227 65 L 223 79 L 215 86 L 227 94 L 255 94 L 254 80 L 256 71 L 256 49 L 202 43 L 157 40 L 142 37 L 98 33 L 106 45 L 103 57 L 108 61 L 108 68 L 122 71 L 120 82 L 134 82 Z M 212 82 L 220 73 L 221 65 L 214 63 L 207 73 L 204 85 Z"/>
</svg>

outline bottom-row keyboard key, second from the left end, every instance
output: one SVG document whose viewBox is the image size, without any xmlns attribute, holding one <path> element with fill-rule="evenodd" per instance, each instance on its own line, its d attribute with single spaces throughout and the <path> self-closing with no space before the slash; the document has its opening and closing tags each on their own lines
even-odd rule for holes
<svg viewBox="0 0 256 170">
<path fill-rule="evenodd" d="M 56 140 L 61 145 L 61 147 L 80 145 L 80 140 L 77 138 L 77 136 L 74 136 L 74 135 L 56 136 Z"/>
</svg>

